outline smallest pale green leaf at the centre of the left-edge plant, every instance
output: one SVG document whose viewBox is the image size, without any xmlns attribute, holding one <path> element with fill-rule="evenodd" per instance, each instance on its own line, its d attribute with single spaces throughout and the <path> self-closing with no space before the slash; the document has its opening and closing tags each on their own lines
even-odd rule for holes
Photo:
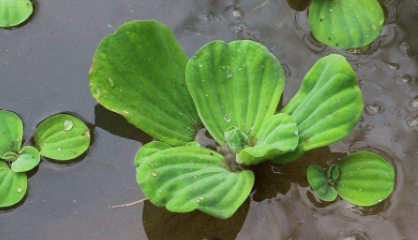
<svg viewBox="0 0 418 240">
<path fill-rule="evenodd" d="M 27 172 L 38 166 L 41 156 L 38 150 L 32 146 L 26 146 L 20 150 L 16 160 L 12 162 L 13 172 Z"/>
</svg>

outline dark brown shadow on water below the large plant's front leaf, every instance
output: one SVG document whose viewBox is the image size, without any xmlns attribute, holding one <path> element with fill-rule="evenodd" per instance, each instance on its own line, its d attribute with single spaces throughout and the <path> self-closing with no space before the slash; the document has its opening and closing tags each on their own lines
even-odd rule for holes
<svg viewBox="0 0 418 240">
<path fill-rule="evenodd" d="M 233 240 L 247 217 L 248 198 L 228 219 L 218 219 L 200 211 L 173 213 L 146 201 L 142 214 L 145 232 L 150 240 Z"/>
</svg>

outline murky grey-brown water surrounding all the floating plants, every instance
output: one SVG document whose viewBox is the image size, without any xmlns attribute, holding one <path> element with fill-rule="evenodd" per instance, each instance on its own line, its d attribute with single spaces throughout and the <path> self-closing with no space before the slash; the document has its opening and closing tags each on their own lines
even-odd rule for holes
<svg viewBox="0 0 418 240">
<path fill-rule="evenodd" d="M 306 0 L 288 2 L 304 9 Z M 0 239 L 418 239 L 418 1 L 382 3 L 387 24 L 381 37 L 349 53 L 313 40 L 306 11 L 295 12 L 282 0 L 38 0 L 27 25 L 0 29 L 0 107 L 20 114 L 26 137 L 52 114 L 76 113 L 95 126 L 95 142 L 82 161 L 41 163 L 31 174 L 26 200 L 0 212 Z M 231 219 L 173 214 L 149 202 L 110 210 L 144 197 L 133 157 L 151 138 L 96 105 L 88 70 L 107 34 L 127 21 L 151 18 L 169 25 L 189 56 L 215 39 L 261 42 L 286 69 L 284 103 L 317 59 L 343 54 L 360 79 L 362 120 L 329 148 L 289 165 L 259 166 L 252 200 Z M 363 149 L 396 166 L 391 197 L 371 208 L 315 199 L 307 167 Z"/>
</svg>

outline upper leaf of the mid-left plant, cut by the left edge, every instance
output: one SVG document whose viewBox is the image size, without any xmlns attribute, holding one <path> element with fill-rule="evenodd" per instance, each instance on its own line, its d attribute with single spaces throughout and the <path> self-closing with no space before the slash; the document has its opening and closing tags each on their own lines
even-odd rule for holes
<svg viewBox="0 0 418 240">
<path fill-rule="evenodd" d="M 13 112 L 0 110 L 0 158 L 8 152 L 19 152 L 22 145 L 23 123 Z"/>
</svg>

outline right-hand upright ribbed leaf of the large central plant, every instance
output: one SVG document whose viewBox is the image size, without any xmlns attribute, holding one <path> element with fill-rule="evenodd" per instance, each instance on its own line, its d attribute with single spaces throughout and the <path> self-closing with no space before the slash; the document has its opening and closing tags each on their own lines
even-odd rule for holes
<svg viewBox="0 0 418 240">
<path fill-rule="evenodd" d="M 363 110 L 357 76 L 347 60 L 336 54 L 321 58 L 303 79 L 296 95 L 282 110 L 297 123 L 299 145 L 274 163 L 291 162 L 306 151 L 348 136 Z"/>
</svg>

